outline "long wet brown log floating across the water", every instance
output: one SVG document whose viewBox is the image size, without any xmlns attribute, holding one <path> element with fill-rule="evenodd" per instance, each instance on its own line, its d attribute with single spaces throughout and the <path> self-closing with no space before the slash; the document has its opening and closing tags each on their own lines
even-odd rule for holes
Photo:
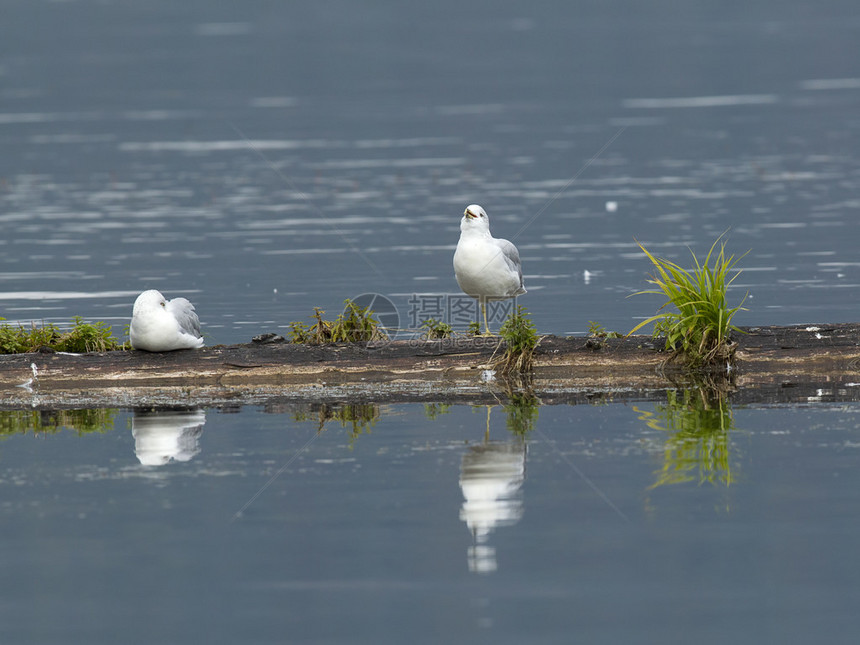
<svg viewBox="0 0 860 645">
<path fill-rule="evenodd" d="M 737 362 L 730 378 L 716 384 L 733 402 L 860 400 L 860 324 L 746 331 L 735 335 Z M 489 370 L 499 342 L 248 343 L 163 354 L 5 355 L 0 356 L 0 408 L 492 403 L 524 387 L 544 403 L 578 403 L 660 398 L 667 389 L 700 385 L 667 364 L 662 343 L 647 336 L 546 336 L 528 384 Z"/>
</svg>

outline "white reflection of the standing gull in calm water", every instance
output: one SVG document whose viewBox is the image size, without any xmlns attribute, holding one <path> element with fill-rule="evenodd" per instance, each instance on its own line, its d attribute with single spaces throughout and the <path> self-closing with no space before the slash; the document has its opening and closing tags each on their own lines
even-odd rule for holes
<svg viewBox="0 0 860 645">
<path fill-rule="evenodd" d="M 490 534 L 500 526 L 511 526 L 523 516 L 521 488 L 526 477 L 526 442 L 522 435 L 511 441 L 490 440 L 490 412 L 481 444 L 463 455 L 460 489 L 463 505 L 460 519 L 472 534 L 467 549 L 469 571 L 492 573 L 498 568 Z M 510 426 L 511 415 L 508 415 Z"/>
</svg>

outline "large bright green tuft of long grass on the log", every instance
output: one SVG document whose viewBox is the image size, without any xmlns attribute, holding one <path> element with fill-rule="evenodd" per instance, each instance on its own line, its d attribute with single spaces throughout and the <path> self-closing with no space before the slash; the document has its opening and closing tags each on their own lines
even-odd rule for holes
<svg viewBox="0 0 860 645">
<path fill-rule="evenodd" d="M 738 270 L 729 277 L 746 253 L 740 258 L 726 257 L 722 238 L 721 235 L 714 241 L 704 262 L 699 262 L 695 253 L 690 251 L 694 266 L 689 271 L 674 262 L 655 257 L 636 242 L 656 269 L 648 282 L 657 288 L 633 295 L 656 294 L 667 300 L 656 315 L 636 325 L 628 335 L 654 323 L 653 335 L 666 337 L 666 349 L 673 352 L 672 358 L 682 357 L 692 368 L 725 365 L 733 360 L 734 343 L 729 333 L 740 330 L 731 321 L 743 309 L 746 296 L 737 306 L 729 307 L 726 290 L 740 275 Z M 715 254 L 718 245 L 719 252 Z M 674 307 L 676 311 L 664 311 L 668 307 Z"/>
</svg>

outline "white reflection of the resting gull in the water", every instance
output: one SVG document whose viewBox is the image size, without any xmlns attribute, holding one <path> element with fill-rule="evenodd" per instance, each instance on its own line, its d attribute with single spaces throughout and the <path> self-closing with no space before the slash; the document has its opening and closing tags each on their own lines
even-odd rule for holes
<svg viewBox="0 0 860 645">
<path fill-rule="evenodd" d="M 190 461 L 200 452 L 203 410 L 135 410 L 131 419 L 134 452 L 144 466 L 162 466 L 171 460 Z"/>
</svg>

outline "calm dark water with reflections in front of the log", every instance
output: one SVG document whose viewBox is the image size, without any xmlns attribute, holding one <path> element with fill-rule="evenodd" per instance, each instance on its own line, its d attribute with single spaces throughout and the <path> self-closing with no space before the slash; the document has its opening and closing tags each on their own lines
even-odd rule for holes
<svg viewBox="0 0 860 645">
<path fill-rule="evenodd" d="M 0 413 L 0 640 L 848 643 L 860 627 L 858 404 L 233 412 Z"/>
</svg>

